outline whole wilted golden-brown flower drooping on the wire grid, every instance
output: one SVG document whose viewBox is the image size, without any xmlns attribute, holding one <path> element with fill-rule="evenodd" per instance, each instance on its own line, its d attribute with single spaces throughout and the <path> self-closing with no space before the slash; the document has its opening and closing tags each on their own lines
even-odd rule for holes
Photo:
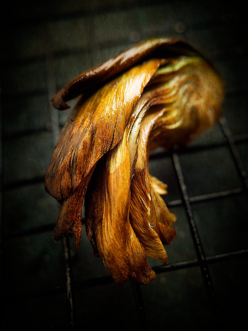
<svg viewBox="0 0 248 331">
<path fill-rule="evenodd" d="M 168 264 L 164 249 L 176 219 L 149 175 L 148 157 L 186 145 L 219 118 L 223 82 L 211 63 L 182 40 L 155 38 L 85 71 L 53 98 L 56 109 L 81 95 L 56 144 L 45 189 L 62 204 L 58 241 L 86 234 L 116 283 L 147 284 L 146 256 Z"/>
</svg>

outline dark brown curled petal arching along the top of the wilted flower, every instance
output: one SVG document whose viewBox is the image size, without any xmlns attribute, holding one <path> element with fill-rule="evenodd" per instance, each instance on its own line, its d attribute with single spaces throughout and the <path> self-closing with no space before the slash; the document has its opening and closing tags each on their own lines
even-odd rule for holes
<svg viewBox="0 0 248 331">
<path fill-rule="evenodd" d="M 66 101 L 82 93 L 99 88 L 107 80 L 131 68 L 140 61 L 151 58 L 167 59 L 177 56 L 203 55 L 185 41 L 176 38 L 153 38 L 121 52 L 110 60 L 83 72 L 67 83 L 53 98 L 56 109 L 68 109 Z"/>
</svg>

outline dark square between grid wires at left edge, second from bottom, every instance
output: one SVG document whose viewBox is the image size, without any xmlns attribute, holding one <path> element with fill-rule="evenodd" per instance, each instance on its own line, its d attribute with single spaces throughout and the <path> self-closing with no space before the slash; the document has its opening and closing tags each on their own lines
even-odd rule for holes
<svg viewBox="0 0 248 331">
<path fill-rule="evenodd" d="M 65 286 L 62 253 L 62 242 L 54 242 L 52 231 L 6 240 L 5 294 L 15 298 L 19 293 Z"/>
</svg>

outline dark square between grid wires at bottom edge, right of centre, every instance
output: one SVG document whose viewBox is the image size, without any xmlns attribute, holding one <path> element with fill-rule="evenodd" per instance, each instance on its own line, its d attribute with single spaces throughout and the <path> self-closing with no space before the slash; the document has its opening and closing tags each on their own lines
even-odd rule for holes
<svg viewBox="0 0 248 331">
<path fill-rule="evenodd" d="M 213 325 L 198 267 L 157 274 L 156 281 L 142 287 L 142 293 L 148 328 L 207 330 Z"/>
</svg>

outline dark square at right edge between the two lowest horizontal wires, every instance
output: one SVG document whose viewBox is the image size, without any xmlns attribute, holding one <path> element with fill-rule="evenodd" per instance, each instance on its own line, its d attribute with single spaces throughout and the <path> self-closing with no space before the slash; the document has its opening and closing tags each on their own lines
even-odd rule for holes
<svg viewBox="0 0 248 331">
<path fill-rule="evenodd" d="M 194 203 L 192 209 L 207 256 L 248 249 L 246 196 Z"/>
</svg>

